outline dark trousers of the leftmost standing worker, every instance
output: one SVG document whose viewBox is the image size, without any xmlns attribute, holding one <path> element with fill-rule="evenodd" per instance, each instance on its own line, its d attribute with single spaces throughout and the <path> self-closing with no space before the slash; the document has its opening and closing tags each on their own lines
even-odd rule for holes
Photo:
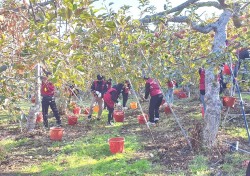
<svg viewBox="0 0 250 176">
<path fill-rule="evenodd" d="M 57 125 L 61 125 L 61 118 L 60 118 L 60 115 L 59 115 L 59 111 L 58 111 L 58 109 L 56 107 L 55 98 L 51 97 L 51 96 L 45 96 L 42 99 L 42 112 L 43 112 L 43 124 L 44 124 L 44 126 L 48 127 L 48 110 L 49 110 L 49 106 L 50 106 L 51 110 L 54 113 Z"/>
</svg>

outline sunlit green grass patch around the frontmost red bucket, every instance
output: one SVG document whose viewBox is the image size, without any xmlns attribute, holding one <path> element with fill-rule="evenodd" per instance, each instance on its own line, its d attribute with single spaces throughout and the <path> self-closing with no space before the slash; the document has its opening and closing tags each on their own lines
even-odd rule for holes
<svg viewBox="0 0 250 176">
<path fill-rule="evenodd" d="M 124 153 L 113 155 L 109 151 L 108 139 L 119 136 L 121 127 L 117 124 L 97 130 L 67 144 L 54 142 L 48 149 L 60 148 L 60 154 L 54 160 L 27 167 L 23 172 L 38 175 L 144 175 L 150 171 L 151 163 L 134 159 L 134 153 L 140 149 L 135 135 L 126 135 Z"/>
</svg>

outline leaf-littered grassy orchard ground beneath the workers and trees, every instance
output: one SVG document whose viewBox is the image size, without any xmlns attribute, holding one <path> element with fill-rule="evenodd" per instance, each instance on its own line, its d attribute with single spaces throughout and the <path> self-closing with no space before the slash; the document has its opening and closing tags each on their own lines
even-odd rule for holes
<svg viewBox="0 0 250 176">
<path fill-rule="evenodd" d="M 130 100 L 133 101 L 133 100 Z M 248 100 L 246 100 L 248 101 Z M 141 104 L 147 112 L 148 102 Z M 23 104 L 26 107 L 27 104 Z M 223 113 L 226 109 L 223 109 Z M 239 107 L 230 110 L 236 113 Z M 202 124 L 199 102 L 195 99 L 177 100 L 174 112 L 195 143 L 197 124 Z M 191 151 L 173 115 L 161 112 L 161 123 L 149 130 L 139 125 L 141 112 L 129 109 L 124 123 L 106 126 L 107 111 L 101 121 L 87 121 L 81 115 L 78 124 L 67 125 L 63 117 L 62 141 L 51 141 L 49 132 L 37 124 L 33 133 L 20 131 L 17 121 L 6 113 L 0 116 L 0 173 L 5 175 L 238 175 L 245 174 L 242 163 L 249 154 L 230 151 L 223 141 L 239 141 L 239 147 L 249 150 L 248 136 L 242 118 L 225 121 L 218 134 L 218 145 L 212 149 Z M 222 114 L 224 118 L 225 114 Z M 18 117 L 16 117 L 18 118 Z M 249 121 L 249 118 L 247 119 Z M 51 118 L 50 123 L 55 119 Z M 125 138 L 124 153 L 111 154 L 108 139 Z M 196 139 L 198 141 L 199 139 Z M 198 141 L 201 143 L 201 141 Z M 199 145 L 198 145 L 199 146 Z"/>
</svg>

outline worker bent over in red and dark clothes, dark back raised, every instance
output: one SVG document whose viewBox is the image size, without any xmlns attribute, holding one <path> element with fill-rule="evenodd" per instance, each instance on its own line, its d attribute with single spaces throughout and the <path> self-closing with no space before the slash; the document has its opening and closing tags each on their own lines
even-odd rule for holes
<svg viewBox="0 0 250 176">
<path fill-rule="evenodd" d="M 124 85 L 122 83 L 114 85 L 104 94 L 104 103 L 106 104 L 109 111 L 107 125 L 112 125 L 115 104 L 117 103 L 118 106 L 120 106 L 120 104 L 118 103 L 118 98 L 120 93 L 122 92 L 123 86 Z"/>
</svg>

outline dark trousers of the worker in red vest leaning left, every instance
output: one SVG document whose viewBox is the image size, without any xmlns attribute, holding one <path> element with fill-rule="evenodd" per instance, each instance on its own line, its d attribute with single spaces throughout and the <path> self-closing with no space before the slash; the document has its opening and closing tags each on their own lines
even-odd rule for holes
<svg viewBox="0 0 250 176">
<path fill-rule="evenodd" d="M 155 122 L 155 118 L 159 118 L 159 108 L 163 99 L 162 94 L 152 96 L 149 102 L 149 121 Z"/>
</svg>

